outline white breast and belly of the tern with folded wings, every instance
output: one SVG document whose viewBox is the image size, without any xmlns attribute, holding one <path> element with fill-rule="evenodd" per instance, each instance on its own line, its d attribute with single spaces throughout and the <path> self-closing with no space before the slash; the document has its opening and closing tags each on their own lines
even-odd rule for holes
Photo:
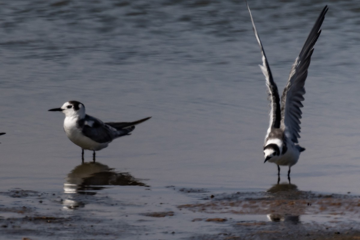
<svg viewBox="0 0 360 240">
<path fill-rule="evenodd" d="M 109 142 L 95 142 L 89 137 L 84 136 L 81 132 L 81 129 L 77 128 L 76 125 L 73 124 L 73 122 L 70 122 L 69 124 L 69 121 L 64 121 L 64 130 L 66 136 L 70 139 L 70 141 L 72 141 L 82 149 L 98 151 L 106 148 L 109 144 Z"/>
</svg>

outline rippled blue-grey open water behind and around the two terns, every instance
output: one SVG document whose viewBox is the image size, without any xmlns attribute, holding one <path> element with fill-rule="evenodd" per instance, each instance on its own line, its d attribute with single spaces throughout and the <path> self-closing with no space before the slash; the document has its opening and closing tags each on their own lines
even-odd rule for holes
<svg viewBox="0 0 360 240">
<path fill-rule="evenodd" d="M 279 89 L 325 4 L 292 183 L 360 194 L 359 3 L 249 1 Z M 64 134 L 63 114 L 47 110 L 68 100 L 104 121 L 152 116 L 96 160 L 154 192 L 276 183 L 276 165 L 263 163 L 269 108 L 244 1 L 8 1 L 0 26 L 1 191 L 64 191 L 81 149 Z"/>
</svg>

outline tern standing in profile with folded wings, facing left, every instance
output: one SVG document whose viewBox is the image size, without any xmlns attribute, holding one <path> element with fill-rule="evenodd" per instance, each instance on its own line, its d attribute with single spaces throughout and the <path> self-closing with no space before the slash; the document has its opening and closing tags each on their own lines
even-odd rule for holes
<svg viewBox="0 0 360 240">
<path fill-rule="evenodd" d="M 82 149 L 82 162 L 84 162 L 84 149 L 95 151 L 106 148 L 108 144 L 121 136 L 130 135 L 135 125 L 148 120 L 150 117 L 134 122 L 106 122 L 85 114 L 84 104 L 78 101 L 68 101 L 61 108 L 49 111 L 60 111 L 65 114 L 64 131 L 66 136 Z"/>
</svg>

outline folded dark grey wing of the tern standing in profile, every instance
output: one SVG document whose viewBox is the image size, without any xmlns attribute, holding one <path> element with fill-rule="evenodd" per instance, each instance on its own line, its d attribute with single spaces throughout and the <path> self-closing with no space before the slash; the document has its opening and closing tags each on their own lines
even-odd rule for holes
<svg viewBox="0 0 360 240">
<path fill-rule="evenodd" d="M 85 136 L 99 143 L 111 142 L 113 139 L 127 135 L 134 130 L 134 127 L 129 127 L 118 131 L 99 119 L 89 115 L 86 115 L 84 119 L 81 119 L 78 124 L 82 128 L 82 133 Z"/>
</svg>

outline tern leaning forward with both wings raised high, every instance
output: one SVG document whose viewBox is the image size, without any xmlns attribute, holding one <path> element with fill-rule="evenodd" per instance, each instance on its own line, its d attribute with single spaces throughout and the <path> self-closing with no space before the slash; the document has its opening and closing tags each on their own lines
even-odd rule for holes
<svg viewBox="0 0 360 240">
<path fill-rule="evenodd" d="M 299 56 L 295 59 L 281 99 L 249 7 L 248 10 L 256 40 L 261 49 L 262 65 L 260 65 L 260 68 L 266 78 L 267 93 L 269 94 L 271 108 L 270 126 L 267 130 L 264 144 L 265 162 L 269 161 L 275 163 L 278 166 L 278 175 L 280 175 L 280 165 L 289 166 L 288 177 L 290 178 L 290 168 L 297 163 L 300 153 L 305 150 L 305 148 L 298 145 L 298 138 L 300 138 L 300 119 L 302 114 L 300 108 L 303 107 L 301 102 L 304 100 L 304 85 L 307 77 L 307 70 L 310 65 L 310 58 L 314 51 L 315 43 L 320 36 L 321 24 L 328 11 L 328 6 L 325 6 L 321 11 Z"/>
</svg>

